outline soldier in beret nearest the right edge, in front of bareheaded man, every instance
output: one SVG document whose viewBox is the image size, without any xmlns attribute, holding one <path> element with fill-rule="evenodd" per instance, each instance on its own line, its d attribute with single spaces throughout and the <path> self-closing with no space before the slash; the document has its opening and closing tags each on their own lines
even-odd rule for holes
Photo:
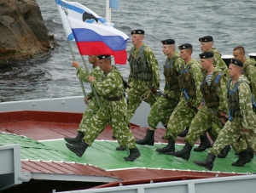
<svg viewBox="0 0 256 193">
<path fill-rule="evenodd" d="M 241 75 L 242 62 L 231 59 L 229 65 L 230 81 L 228 82 L 228 107 L 229 121 L 218 134 L 213 147 L 209 149 L 207 159 L 194 161 L 201 167 L 212 170 L 215 157 L 225 145 L 231 144 L 236 152 L 240 152 L 239 158 L 232 166 L 241 167 L 251 162 L 247 145 L 255 152 L 255 114 L 253 113 L 252 97 L 247 77 Z M 240 138 L 244 140 L 240 140 Z M 236 143 L 234 143 L 236 142 Z"/>
</svg>

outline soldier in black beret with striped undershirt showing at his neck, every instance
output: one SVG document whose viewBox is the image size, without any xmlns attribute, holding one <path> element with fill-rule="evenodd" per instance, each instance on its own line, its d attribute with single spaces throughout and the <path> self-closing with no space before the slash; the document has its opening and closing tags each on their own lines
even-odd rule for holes
<svg viewBox="0 0 256 193">
<path fill-rule="evenodd" d="M 208 128 L 215 122 L 219 128 L 223 128 L 227 119 L 227 79 L 226 75 L 218 67 L 213 66 L 213 53 L 204 52 L 199 54 L 201 68 L 204 70 L 203 81 L 201 82 L 201 93 L 204 98 L 204 105 L 195 115 L 189 126 L 189 133 L 185 137 L 186 144 L 183 150 L 170 152 L 172 156 L 182 157 L 189 160 L 190 151 L 196 140 L 202 133 L 206 133 Z M 215 139 L 217 136 L 214 136 Z M 230 145 L 228 145 L 230 150 Z"/>
</svg>

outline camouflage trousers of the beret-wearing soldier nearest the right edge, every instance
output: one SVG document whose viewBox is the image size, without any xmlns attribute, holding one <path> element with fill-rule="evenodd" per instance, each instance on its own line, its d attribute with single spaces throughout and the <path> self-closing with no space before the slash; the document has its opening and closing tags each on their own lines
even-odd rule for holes
<svg viewBox="0 0 256 193">
<path fill-rule="evenodd" d="M 218 156 L 220 150 L 226 145 L 231 145 L 236 152 L 247 150 L 246 140 L 241 139 L 241 137 L 244 138 L 245 136 L 242 136 L 241 133 L 243 133 L 243 130 L 241 129 L 240 122 L 237 122 L 237 120 L 226 122 L 224 128 L 218 133 L 218 138 L 214 142 L 213 147 L 208 152 Z M 255 141 L 253 144 L 255 150 Z"/>
</svg>

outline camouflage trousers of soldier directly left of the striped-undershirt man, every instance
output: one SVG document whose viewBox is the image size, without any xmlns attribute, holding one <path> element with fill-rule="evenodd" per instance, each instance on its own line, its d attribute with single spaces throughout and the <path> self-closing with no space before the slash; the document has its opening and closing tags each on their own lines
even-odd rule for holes
<svg viewBox="0 0 256 193">
<path fill-rule="evenodd" d="M 189 127 L 194 116 L 195 111 L 190 109 L 183 100 L 180 100 L 170 116 L 165 138 L 168 139 L 172 137 L 172 139 L 176 141 L 177 134 L 181 133 L 184 128 Z"/>
</svg>

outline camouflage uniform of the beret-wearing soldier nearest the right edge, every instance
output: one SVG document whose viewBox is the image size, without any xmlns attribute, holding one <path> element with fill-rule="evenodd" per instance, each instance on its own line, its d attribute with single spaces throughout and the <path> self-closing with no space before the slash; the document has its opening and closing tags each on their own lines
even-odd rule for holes
<svg viewBox="0 0 256 193">
<path fill-rule="evenodd" d="M 251 98 L 251 90 L 248 85 L 247 77 L 241 75 L 237 82 L 241 82 L 237 88 L 239 101 L 237 105 L 241 116 L 230 116 L 230 121 L 228 121 L 224 128 L 218 134 L 213 147 L 209 149 L 209 153 L 218 156 L 218 152 L 224 148 L 225 145 L 231 144 L 236 152 L 241 152 L 247 150 L 247 144 L 244 140 L 240 140 L 240 137 L 247 139 L 250 147 L 253 148 L 254 152 L 256 150 L 256 140 L 255 140 L 255 121 L 256 117 L 253 113 L 253 105 Z M 230 83 L 230 90 L 233 91 L 236 88 L 236 83 Z M 229 101 L 230 104 L 230 101 Z M 245 132 L 243 129 L 247 129 Z M 245 138 L 247 136 L 247 138 Z"/>
</svg>

